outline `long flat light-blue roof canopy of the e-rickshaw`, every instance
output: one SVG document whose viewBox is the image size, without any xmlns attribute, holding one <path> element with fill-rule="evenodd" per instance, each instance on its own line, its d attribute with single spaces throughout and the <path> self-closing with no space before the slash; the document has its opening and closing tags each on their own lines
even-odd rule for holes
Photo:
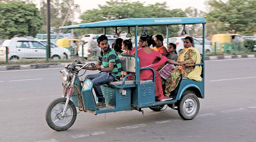
<svg viewBox="0 0 256 142">
<path fill-rule="evenodd" d="M 204 17 L 129 18 L 59 27 L 59 29 L 206 24 Z"/>
</svg>

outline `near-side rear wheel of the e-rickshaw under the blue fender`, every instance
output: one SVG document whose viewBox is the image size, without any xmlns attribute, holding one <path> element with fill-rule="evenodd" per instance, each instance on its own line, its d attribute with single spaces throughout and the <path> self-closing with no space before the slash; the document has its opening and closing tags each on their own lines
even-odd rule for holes
<svg viewBox="0 0 256 142">
<path fill-rule="evenodd" d="M 194 92 L 185 91 L 178 102 L 179 116 L 184 120 L 196 117 L 200 108 L 199 100 Z"/>
</svg>

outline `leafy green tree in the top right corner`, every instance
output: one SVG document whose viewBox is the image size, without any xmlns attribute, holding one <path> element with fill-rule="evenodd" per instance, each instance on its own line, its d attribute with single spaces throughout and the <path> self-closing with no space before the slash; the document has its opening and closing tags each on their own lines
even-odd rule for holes
<svg viewBox="0 0 256 142">
<path fill-rule="evenodd" d="M 222 22 L 215 27 L 223 33 L 234 30 L 241 34 L 256 33 L 256 0 L 208 0 L 210 12 L 206 14 L 206 21 L 209 23 Z"/>
</svg>

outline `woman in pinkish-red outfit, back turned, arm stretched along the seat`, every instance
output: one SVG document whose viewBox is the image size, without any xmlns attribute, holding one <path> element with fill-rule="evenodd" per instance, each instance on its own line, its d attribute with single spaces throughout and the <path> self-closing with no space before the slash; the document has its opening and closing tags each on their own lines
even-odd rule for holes
<svg viewBox="0 0 256 142">
<path fill-rule="evenodd" d="M 165 62 L 175 65 L 183 65 L 186 62 L 175 62 L 162 56 L 159 52 L 152 50 L 149 46 L 153 43 L 152 36 L 147 35 L 146 37 L 140 37 L 138 50 L 138 57 L 140 59 L 140 68 L 151 67 L 155 70 L 155 99 L 158 101 L 168 101 L 172 98 L 165 97 L 163 94 L 163 89 L 161 85 L 161 77 L 157 68 L 164 64 Z M 131 52 L 131 55 L 135 55 L 135 48 Z M 160 59 L 159 62 L 154 63 L 156 59 Z M 153 64 L 154 63 L 154 64 Z M 140 70 L 140 80 L 150 80 L 153 79 L 153 74 L 151 70 Z"/>
</svg>

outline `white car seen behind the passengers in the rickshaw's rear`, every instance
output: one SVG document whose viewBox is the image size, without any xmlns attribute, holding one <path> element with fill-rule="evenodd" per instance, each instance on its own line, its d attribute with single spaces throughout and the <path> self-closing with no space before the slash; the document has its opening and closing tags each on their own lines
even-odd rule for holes
<svg viewBox="0 0 256 142">
<path fill-rule="evenodd" d="M 175 43 L 176 44 L 176 51 L 177 51 L 178 54 L 184 48 L 184 46 L 183 46 L 184 38 L 185 37 L 170 37 L 170 38 L 168 38 L 168 40 L 169 40 L 168 42 L 169 43 Z M 200 52 L 200 54 L 202 54 L 203 53 L 203 51 L 202 51 L 203 50 L 202 43 L 200 41 L 196 40 L 195 38 L 193 38 L 193 39 L 194 39 L 194 46 L 195 46 L 195 48 L 197 48 L 197 50 Z M 167 39 L 164 39 L 163 43 L 164 43 L 164 46 L 166 46 L 167 45 Z M 211 52 L 211 45 L 205 44 L 204 45 L 204 51 L 205 52 Z"/>
</svg>

